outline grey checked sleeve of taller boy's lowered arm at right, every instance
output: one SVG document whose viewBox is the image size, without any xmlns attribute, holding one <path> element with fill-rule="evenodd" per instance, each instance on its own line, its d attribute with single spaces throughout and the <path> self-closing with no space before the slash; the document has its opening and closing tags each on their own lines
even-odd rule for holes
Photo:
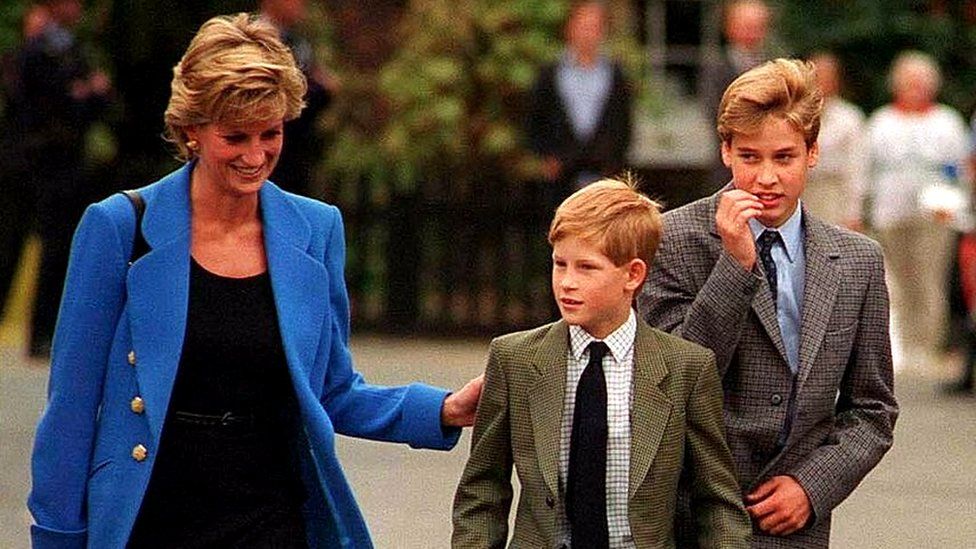
<svg viewBox="0 0 976 549">
<path fill-rule="evenodd" d="M 834 428 L 789 474 L 806 490 L 815 519 L 844 501 L 891 448 L 898 404 L 888 335 L 888 290 L 877 251 L 857 334 L 841 380 Z"/>
</svg>

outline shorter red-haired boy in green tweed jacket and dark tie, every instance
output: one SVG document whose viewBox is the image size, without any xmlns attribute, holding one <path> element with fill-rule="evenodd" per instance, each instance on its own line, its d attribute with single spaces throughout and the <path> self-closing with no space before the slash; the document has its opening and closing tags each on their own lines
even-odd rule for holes
<svg viewBox="0 0 976 549">
<path fill-rule="evenodd" d="M 513 466 L 522 491 L 512 547 L 675 547 L 683 470 L 701 545 L 749 546 L 713 355 L 631 308 L 660 234 L 657 204 L 620 181 L 557 209 L 549 242 L 562 320 L 491 343 L 453 547 L 506 544 Z"/>
</svg>

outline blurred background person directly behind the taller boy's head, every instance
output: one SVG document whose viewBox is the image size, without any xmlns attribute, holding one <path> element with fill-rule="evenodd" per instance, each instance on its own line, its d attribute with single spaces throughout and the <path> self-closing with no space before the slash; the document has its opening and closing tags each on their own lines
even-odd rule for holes
<svg viewBox="0 0 976 549">
<path fill-rule="evenodd" d="M 718 118 L 725 88 L 740 74 L 772 59 L 768 40 L 771 19 L 772 13 L 763 0 L 733 0 L 723 4 L 725 46 L 705 61 L 699 74 L 698 93 L 710 123 Z M 718 149 L 717 142 L 715 148 Z M 716 157 L 710 177 L 717 189 L 729 182 L 732 173 Z"/>
</svg>

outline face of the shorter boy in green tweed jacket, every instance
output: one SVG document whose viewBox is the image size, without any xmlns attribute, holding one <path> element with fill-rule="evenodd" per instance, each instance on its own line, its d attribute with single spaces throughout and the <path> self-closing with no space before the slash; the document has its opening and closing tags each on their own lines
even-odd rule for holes
<svg viewBox="0 0 976 549">
<path fill-rule="evenodd" d="M 640 259 L 616 266 L 587 240 L 567 236 L 552 247 L 552 293 L 563 320 L 604 338 L 627 320 L 647 266 Z"/>
</svg>

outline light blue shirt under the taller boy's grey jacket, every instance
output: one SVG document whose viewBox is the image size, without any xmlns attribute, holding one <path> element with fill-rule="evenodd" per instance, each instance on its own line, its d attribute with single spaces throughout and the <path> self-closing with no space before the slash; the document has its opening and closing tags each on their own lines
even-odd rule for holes
<svg viewBox="0 0 976 549">
<path fill-rule="evenodd" d="M 803 313 L 803 285 L 806 255 L 803 250 L 803 223 L 800 203 L 793 215 L 776 229 L 767 229 L 755 219 L 749 220 L 754 239 L 765 230 L 778 231 L 782 240 L 772 249 L 776 263 L 776 322 L 786 347 L 786 360 L 794 373 L 800 367 L 800 318 Z"/>
</svg>

